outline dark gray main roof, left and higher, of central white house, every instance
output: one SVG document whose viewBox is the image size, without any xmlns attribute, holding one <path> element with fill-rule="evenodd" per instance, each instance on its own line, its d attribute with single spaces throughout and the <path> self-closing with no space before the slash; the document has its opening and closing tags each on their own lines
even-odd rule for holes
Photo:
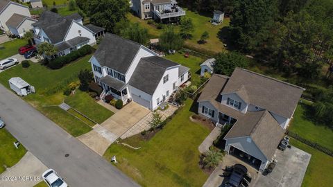
<svg viewBox="0 0 333 187">
<path fill-rule="evenodd" d="M 107 66 L 125 74 L 140 47 L 141 45 L 136 42 L 106 33 L 94 57 L 101 66 Z"/>
</svg>

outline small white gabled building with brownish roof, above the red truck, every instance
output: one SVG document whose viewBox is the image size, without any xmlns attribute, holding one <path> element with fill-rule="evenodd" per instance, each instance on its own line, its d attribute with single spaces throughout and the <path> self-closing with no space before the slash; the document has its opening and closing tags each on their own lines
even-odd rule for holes
<svg viewBox="0 0 333 187">
<path fill-rule="evenodd" d="M 12 35 L 23 37 L 26 32 L 33 28 L 32 24 L 35 22 L 37 22 L 37 20 L 32 19 L 31 17 L 14 14 L 10 17 L 10 19 L 8 19 L 6 25 Z"/>
</svg>

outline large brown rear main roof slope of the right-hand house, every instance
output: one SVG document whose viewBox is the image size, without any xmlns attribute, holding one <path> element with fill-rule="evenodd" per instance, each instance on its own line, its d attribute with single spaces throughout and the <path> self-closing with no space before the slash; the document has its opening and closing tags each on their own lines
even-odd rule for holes
<svg viewBox="0 0 333 187">
<path fill-rule="evenodd" d="M 246 93 L 244 100 L 285 118 L 291 118 L 305 90 L 253 71 L 236 68 L 221 94 L 235 93 L 243 86 L 245 88 L 239 93 Z"/>
</svg>

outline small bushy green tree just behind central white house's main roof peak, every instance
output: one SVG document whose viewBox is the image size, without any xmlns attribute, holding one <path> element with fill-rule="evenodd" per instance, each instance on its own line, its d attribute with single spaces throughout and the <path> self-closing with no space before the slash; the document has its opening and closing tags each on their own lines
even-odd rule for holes
<svg viewBox="0 0 333 187">
<path fill-rule="evenodd" d="M 138 23 L 130 24 L 121 30 L 120 35 L 139 44 L 146 44 L 148 40 L 148 30 L 139 26 Z"/>
</svg>

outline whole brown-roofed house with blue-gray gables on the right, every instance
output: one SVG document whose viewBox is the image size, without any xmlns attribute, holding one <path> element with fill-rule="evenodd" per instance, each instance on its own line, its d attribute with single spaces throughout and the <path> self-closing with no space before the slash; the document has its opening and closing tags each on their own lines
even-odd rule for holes
<svg viewBox="0 0 333 187">
<path fill-rule="evenodd" d="M 198 114 L 216 124 L 233 124 L 225 151 L 260 172 L 283 138 L 305 89 L 236 68 L 231 77 L 213 74 L 198 98 Z"/>
</svg>

